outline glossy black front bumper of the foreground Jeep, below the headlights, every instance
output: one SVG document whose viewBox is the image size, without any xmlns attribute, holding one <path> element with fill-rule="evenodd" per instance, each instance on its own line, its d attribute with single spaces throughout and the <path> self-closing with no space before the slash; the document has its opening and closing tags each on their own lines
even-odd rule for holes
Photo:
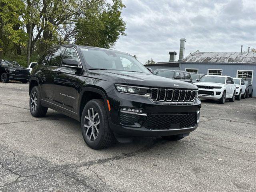
<svg viewBox="0 0 256 192">
<path fill-rule="evenodd" d="M 190 105 L 173 105 L 173 104 L 156 104 L 152 102 L 148 97 L 138 96 L 132 94 L 123 94 L 112 90 L 108 93 L 108 99 L 110 102 L 110 128 L 111 130 L 122 136 L 132 136 L 132 137 L 156 137 L 156 136 L 169 136 L 176 134 L 184 134 L 194 131 L 198 127 L 199 122 L 199 113 L 201 107 L 201 102 L 196 98 L 194 104 Z M 121 108 L 132 108 L 139 109 L 141 114 L 146 116 L 141 116 L 142 119 L 138 120 L 138 123 L 134 125 L 124 125 L 120 120 L 120 109 Z M 151 115 L 169 115 L 169 116 L 178 116 L 178 115 L 194 114 L 196 118 L 193 126 L 189 127 L 180 127 L 182 123 L 171 124 L 170 129 L 150 129 L 146 125 L 148 119 Z M 198 121 L 197 121 L 198 119 Z M 175 119 L 178 121 L 177 119 Z M 160 119 L 156 119 L 160 121 Z M 158 123 L 158 122 L 156 122 Z M 170 121 L 167 122 L 170 124 Z M 162 124 L 163 127 L 165 124 Z M 150 125 L 152 127 L 152 123 Z M 157 127 L 157 126 L 156 126 Z"/>
</svg>

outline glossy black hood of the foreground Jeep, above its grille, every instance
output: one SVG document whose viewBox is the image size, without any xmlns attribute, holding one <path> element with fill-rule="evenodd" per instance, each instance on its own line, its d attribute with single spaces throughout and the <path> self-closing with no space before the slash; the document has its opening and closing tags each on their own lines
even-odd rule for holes
<svg viewBox="0 0 256 192">
<path fill-rule="evenodd" d="M 94 72 L 96 74 L 104 76 L 116 77 L 120 79 L 120 82 L 123 82 L 122 80 L 125 80 L 127 84 L 130 85 L 146 87 L 198 89 L 197 86 L 191 83 L 160 77 L 153 74 L 117 70 L 91 70 L 90 72 Z M 179 86 L 174 86 L 174 84 Z"/>
</svg>

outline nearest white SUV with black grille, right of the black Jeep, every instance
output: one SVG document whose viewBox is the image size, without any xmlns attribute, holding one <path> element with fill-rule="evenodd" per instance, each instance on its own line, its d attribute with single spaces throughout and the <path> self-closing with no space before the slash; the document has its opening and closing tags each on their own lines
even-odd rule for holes
<svg viewBox="0 0 256 192">
<path fill-rule="evenodd" d="M 225 99 L 235 101 L 236 84 L 230 76 L 206 75 L 194 84 L 198 86 L 199 98 L 219 100 L 221 104 Z"/>
</svg>

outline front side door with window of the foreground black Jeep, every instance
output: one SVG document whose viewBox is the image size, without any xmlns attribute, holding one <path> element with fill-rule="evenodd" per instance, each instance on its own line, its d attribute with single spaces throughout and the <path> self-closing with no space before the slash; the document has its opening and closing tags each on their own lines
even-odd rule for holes
<svg viewBox="0 0 256 192">
<path fill-rule="evenodd" d="M 79 61 L 75 48 L 67 47 L 63 59 L 76 59 Z M 76 101 L 80 85 L 79 76 L 82 68 L 70 68 L 62 66 L 56 68 L 54 76 L 54 100 L 60 110 L 66 109 L 71 114 L 77 112 Z"/>
</svg>

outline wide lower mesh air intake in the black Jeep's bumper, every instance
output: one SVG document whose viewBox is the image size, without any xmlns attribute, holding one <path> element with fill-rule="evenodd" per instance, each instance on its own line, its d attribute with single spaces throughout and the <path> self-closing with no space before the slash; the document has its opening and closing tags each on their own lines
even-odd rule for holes
<svg viewBox="0 0 256 192">
<path fill-rule="evenodd" d="M 196 113 L 151 114 L 144 123 L 144 127 L 150 130 L 189 128 L 196 125 L 196 118 Z"/>
</svg>

